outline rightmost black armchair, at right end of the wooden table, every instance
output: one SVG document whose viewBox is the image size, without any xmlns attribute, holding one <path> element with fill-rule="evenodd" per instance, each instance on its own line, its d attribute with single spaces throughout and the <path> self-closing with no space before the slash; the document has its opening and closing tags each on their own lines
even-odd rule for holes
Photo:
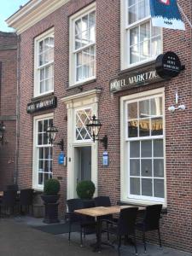
<svg viewBox="0 0 192 256">
<path fill-rule="evenodd" d="M 137 223 L 137 230 L 143 231 L 143 244 L 146 253 L 146 241 L 145 241 L 145 232 L 151 230 L 158 230 L 160 247 L 160 213 L 162 210 L 162 205 L 153 205 L 146 207 L 144 212 L 143 222 Z"/>
</svg>

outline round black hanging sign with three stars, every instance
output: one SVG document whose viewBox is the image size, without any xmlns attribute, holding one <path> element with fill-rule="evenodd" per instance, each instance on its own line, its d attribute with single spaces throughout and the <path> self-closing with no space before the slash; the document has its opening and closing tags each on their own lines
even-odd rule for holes
<svg viewBox="0 0 192 256">
<path fill-rule="evenodd" d="M 177 54 L 172 51 L 167 51 L 165 54 L 157 57 L 155 69 L 162 79 L 172 79 L 177 77 L 183 70 L 183 67 Z"/>
</svg>

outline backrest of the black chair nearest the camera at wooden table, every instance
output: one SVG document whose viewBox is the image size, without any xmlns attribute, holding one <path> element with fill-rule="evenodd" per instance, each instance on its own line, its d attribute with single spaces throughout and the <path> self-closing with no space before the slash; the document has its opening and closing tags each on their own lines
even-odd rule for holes
<svg viewBox="0 0 192 256">
<path fill-rule="evenodd" d="M 120 210 L 118 220 L 118 235 L 129 235 L 135 232 L 138 207 L 129 207 Z"/>
</svg>

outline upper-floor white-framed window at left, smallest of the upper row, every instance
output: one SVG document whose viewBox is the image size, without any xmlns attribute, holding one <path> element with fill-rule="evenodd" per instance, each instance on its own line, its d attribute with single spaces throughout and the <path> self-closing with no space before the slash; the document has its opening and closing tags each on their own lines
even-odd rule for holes
<svg viewBox="0 0 192 256">
<path fill-rule="evenodd" d="M 54 90 L 54 32 L 45 32 L 35 39 L 34 96 Z"/>
</svg>

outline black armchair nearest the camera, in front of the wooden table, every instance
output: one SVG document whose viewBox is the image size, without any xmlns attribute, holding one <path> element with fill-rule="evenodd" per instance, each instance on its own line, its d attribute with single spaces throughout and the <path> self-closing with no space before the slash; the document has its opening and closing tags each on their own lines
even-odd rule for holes
<svg viewBox="0 0 192 256">
<path fill-rule="evenodd" d="M 118 222 L 111 222 L 108 220 L 109 223 L 113 224 L 108 227 L 108 232 L 110 234 L 114 234 L 117 236 L 118 239 L 118 250 L 121 247 L 121 240 L 122 236 L 127 237 L 132 235 L 134 239 L 134 246 L 137 255 L 137 243 L 136 243 L 136 235 L 135 235 L 135 228 L 136 228 L 136 218 L 137 218 L 137 207 L 129 207 L 120 210 Z"/>
</svg>

